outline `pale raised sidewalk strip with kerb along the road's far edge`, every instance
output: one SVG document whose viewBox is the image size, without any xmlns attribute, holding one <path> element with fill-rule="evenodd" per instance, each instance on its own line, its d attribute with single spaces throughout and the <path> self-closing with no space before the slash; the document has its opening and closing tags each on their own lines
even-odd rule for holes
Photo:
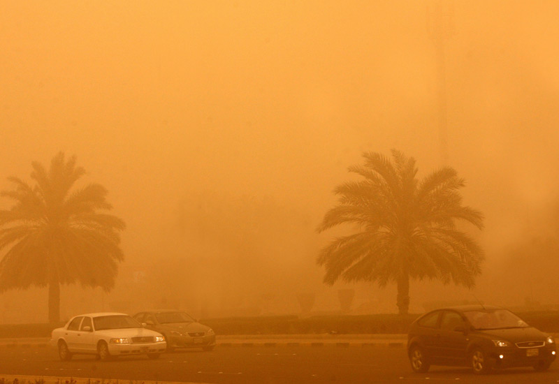
<svg viewBox="0 0 559 384">
<path fill-rule="evenodd" d="M 403 347 L 406 334 L 246 334 L 218 335 L 216 344 L 223 347 L 275 346 L 384 346 Z M 0 348 L 47 348 L 48 338 L 0 339 Z"/>
</svg>

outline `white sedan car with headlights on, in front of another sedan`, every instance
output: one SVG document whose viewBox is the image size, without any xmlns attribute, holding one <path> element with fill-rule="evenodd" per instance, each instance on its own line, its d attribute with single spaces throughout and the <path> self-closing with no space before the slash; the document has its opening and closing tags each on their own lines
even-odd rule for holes
<svg viewBox="0 0 559 384">
<path fill-rule="evenodd" d="M 111 357 L 147 354 L 157 359 L 166 349 L 165 337 L 146 330 L 124 313 L 88 313 L 75 316 L 52 331 L 51 346 L 58 348 L 60 360 L 70 360 L 75 353 Z"/>
</svg>

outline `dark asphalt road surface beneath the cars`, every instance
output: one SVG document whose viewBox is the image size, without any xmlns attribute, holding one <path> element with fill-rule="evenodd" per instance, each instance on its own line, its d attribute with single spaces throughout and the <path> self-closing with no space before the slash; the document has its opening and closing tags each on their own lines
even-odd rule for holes
<svg viewBox="0 0 559 384">
<path fill-rule="evenodd" d="M 74 356 L 60 362 L 50 348 L 0 349 L 2 374 L 183 381 L 194 383 L 558 383 L 559 362 L 546 372 L 507 369 L 474 376 L 468 369 L 432 367 L 414 374 L 405 348 L 390 347 L 218 347 L 99 362 Z"/>
</svg>

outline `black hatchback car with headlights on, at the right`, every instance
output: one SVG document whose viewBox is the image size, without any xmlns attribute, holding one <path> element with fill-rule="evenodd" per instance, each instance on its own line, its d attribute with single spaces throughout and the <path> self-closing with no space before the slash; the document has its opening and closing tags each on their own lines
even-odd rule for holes
<svg viewBox="0 0 559 384">
<path fill-rule="evenodd" d="M 468 305 L 430 311 L 412 323 L 407 339 L 412 369 L 431 365 L 495 368 L 549 368 L 556 357 L 553 337 L 500 307 Z"/>
</svg>

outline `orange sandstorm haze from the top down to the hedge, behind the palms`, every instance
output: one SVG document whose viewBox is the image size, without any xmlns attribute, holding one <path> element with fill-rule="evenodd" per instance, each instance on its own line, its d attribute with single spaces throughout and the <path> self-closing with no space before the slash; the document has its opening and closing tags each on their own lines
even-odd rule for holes
<svg viewBox="0 0 559 384">
<path fill-rule="evenodd" d="M 336 233 L 315 229 L 362 152 L 400 149 L 420 176 L 442 165 L 429 7 L 4 3 L 1 189 L 10 175 L 29 179 L 31 161 L 75 154 L 82 183 L 106 186 L 127 225 L 115 290 L 63 288 L 62 317 L 134 311 L 139 297 L 195 316 L 298 313 L 302 293 L 328 312 L 345 288 L 356 312 L 396 311 L 393 286 L 321 283 L 315 258 Z M 559 304 L 559 5 L 456 1 L 451 15 L 449 165 L 467 182 L 465 203 L 486 216 L 472 292 Z M 441 297 L 441 287 L 412 283 L 410 311 L 474 300 L 453 286 Z M 46 312 L 44 297 L 3 293 L 0 321 L 37 320 L 18 302 Z"/>
</svg>

